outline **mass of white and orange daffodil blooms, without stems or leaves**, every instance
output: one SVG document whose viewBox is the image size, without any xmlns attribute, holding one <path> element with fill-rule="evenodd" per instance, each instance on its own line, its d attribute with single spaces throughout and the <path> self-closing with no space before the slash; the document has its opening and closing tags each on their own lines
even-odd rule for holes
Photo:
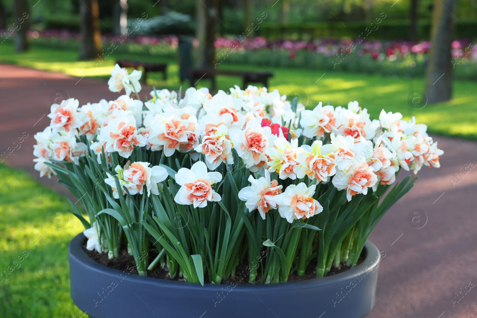
<svg viewBox="0 0 477 318">
<path fill-rule="evenodd" d="M 41 175 L 54 173 L 48 161 L 78 164 L 88 152 L 80 140 L 89 142 L 100 164 L 103 155 L 111 164 L 110 154 L 130 158 L 141 148 L 150 156 L 160 152 L 156 157 L 188 154 L 191 168 L 173 176 L 180 187 L 177 204 L 204 207 L 221 200 L 214 185 L 222 172 L 244 165 L 255 178 L 250 175 L 251 185 L 240 190 L 239 199 L 264 219 L 270 209 L 278 209 L 291 223 L 321 212 L 313 198 L 319 183 L 331 180 L 351 201 L 378 184 L 393 184 L 400 168 L 417 173 L 424 165 L 439 167 L 443 154 L 415 118 L 405 122 L 400 113 L 383 110 L 379 120 L 371 120 L 356 101 L 302 110 L 277 90 L 235 86 L 229 94 L 214 96 L 207 89 L 189 88 L 184 97 L 154 90 L 143 103 L 129 97 L 141 88 L 140 72 L 129 74 L 116 65 L 111 75 L 110 90 L 126 91 L 117 100 L 79 108 L 73 99 L 52 105 L 50 126 L 35 135 L 35 169 Z M 115 198 L 120 195 L 117 182 L 123 195 L 127 189 L 130 195 L 146 191 L 149 196 L 159 194 L 158 184 L 167 176 L 163 166 L 129 159 L 111 167 L 104 182 Z"/>
</svg>

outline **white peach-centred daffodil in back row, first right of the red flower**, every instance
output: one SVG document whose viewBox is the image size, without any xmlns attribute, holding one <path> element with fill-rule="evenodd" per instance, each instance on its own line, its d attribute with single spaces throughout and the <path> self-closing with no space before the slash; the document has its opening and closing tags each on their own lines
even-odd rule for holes
<svg viewBox="0 0 477 318">
<path fill-rule="evenodd" d="M 335 127 L 333 106 L 322 106 L 321 102 L 312 111 L 301 112 L 300 124 L 303 127 L 303 135 L 308 138 L 323 138 Z"/>
</svg>

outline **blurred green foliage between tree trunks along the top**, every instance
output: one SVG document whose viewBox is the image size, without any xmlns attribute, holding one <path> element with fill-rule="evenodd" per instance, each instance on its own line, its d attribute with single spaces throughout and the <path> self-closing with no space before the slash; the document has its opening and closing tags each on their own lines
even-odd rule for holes
<svg viewBox="0 0 477 318">
<path fill-rule="evenodd" d="M 7 21 L 11 21 L 12 1 L 3 1 Z M 114 5 L 117 0 L 99 1 L 100 27 L 104 33 L 112 33 Z M 369 38 L 407 39 L 409 37 L 411 1 L 406 0 L 219 0 L 216 30 L 220 35 L 237 35 L 245 31 L 245 5 L 250 5 L 252 18 L 261 12 L 267 18 L 255 35 L 303 39 L 316 36 L 354 37 L 378 18 L 385 19 L 380 28 Z M 29 0 L 33 28 L 66 29 L 78 31 L 78 0 Z M 417 5 L 417 38 L 428 39 L 434 0 L 419 0 Z M 128 0 L 127 16 L 134 20 L 146 13 L 149 17 L 173 10 L 191 17 L 195 27 L 197 0 Z M 34 7 L 33 7 L 34 6 Z M 272 9 L 272 6 L 274 7 Z M 455 12 L 456 38 L 472 38 L 477 27 L 477 1 L 460 0 Z M 253 19 L 252 19 L 253 20 Z M 221 22 L 220 22 L 221 21 Z M 223 23 L 223 24 L 222 24 Z M 166 32 L 171 34 L 170 32 Z"/>
</svg>

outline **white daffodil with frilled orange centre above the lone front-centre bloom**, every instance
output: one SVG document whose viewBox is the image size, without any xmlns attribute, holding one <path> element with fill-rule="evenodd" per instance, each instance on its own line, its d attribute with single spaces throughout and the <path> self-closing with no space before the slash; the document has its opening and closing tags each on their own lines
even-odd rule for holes
<svg viewBox="0 0 477 318">
<path fill-rule="evenodd" d="M 234 163 L 232 143 L 228 140 L 226 125 L 220 125 L 214 134 L 204 136 L 202 144 L 197 145 L 195 150 L 205 155 L 210 170 L 215 170 L 223 162 Z"/>
</svg>

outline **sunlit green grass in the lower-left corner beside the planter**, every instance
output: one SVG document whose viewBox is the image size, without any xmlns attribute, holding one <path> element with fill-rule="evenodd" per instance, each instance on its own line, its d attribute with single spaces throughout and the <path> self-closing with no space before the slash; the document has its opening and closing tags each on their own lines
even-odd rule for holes
<svg viewBox="0 0 477 318">
<path fill-rule="evenodd" d="M 67 250 L 81 222 L 66 199 L 25 172 L 0 164 L 0 174 L 0 317 L 81 317 Z"/>
</svg>

